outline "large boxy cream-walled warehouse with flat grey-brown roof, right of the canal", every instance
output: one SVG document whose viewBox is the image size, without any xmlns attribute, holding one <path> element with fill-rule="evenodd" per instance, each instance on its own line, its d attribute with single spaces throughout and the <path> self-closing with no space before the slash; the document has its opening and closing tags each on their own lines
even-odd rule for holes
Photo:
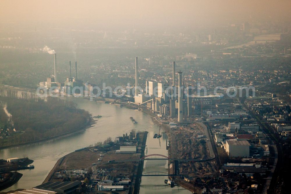
<svg viewBox="0 0 291 194">
<path fill-rule="evenodd" d="M 246 140 L 226 140 L 225 151 L 229 157 L 249 157 L 251 144 Z"/>
</svg>

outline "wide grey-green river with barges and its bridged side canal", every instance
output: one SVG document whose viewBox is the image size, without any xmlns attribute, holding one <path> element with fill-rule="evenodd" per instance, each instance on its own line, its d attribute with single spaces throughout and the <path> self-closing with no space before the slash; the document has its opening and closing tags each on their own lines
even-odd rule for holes
<svg viewBox="0 0 291 194">
<path fill-rule="evenodd" d="M 155 133 L 159 132 L 159 126 L 154 124 L 149 115 L 127 108 L 120 108 L 115 105 L 96 103 L 95 101 L 84 100 L 82 98 L 65 97 L 66 100 L 73 100 L 78 107 L 90 112 L 93 116 L 102 115 L 91 128 L 84 132 L 19 147 L 0 149 L 0 158 L 22 158 L 29 157 L 34 160 L 35 169 L 20 170 L 22 178 L 10 188 L 3 190 L 15 190 L 17 188 L 31 188 L 42 184 L 49 171 L 54 167 L 56 161 L 62 156 L 69 154 L 90 144 L 104 141 L 107 137 L 114 139 L 123 133 L 136 131 L 148 131 L 146 145 L 148 154 L 163 154 L 167 156 L 166 135 L 160 139 L 154 139 Z M 134 117 L 138 124 L 133 124 L 129 117 Z M 143 173 L 145 172 L 168 172 L 167 161 L 145 161 Z M 191 193 L 181 187 L 171 188 L 164 184 L 167 177 L 142 177 L 140 193 Z"/>
</svg>

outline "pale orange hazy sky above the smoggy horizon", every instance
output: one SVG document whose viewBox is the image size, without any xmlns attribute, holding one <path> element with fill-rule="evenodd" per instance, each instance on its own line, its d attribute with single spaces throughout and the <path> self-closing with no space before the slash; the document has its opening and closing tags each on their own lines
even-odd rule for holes
<svg viewBox="0 0 291 194">
<path fill-rule="evenodd" d="M 226 20 L 291 18 L 291 0 L 1 0 L 0 22 L 100 27 L 213 25 Z"/>
</svg>

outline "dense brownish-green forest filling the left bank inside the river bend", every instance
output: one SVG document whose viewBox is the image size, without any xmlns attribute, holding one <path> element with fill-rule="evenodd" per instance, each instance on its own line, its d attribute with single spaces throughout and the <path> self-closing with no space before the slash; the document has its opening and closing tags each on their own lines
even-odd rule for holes
<svg viewBox="0 0 291 194">
<path fill-rule="evenodd" d="M 35 94 L 0 91 L 0 147 L 23 144 L 81 130 L 90 115 L 76 103 Z M 11 116 L 7 115 L 4 108 Z"/>
</svg>

